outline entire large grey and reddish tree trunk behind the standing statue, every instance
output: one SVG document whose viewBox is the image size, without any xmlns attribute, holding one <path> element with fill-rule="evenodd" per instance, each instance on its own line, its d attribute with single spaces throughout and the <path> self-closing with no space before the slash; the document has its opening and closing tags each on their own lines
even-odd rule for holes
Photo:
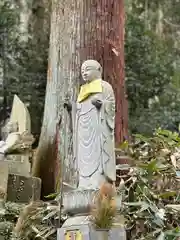
<svg viewBox="0 0 180 240">
<path fill-rule="evenodd" d="M 55 185 L 53 172 L 55 166 L 57 169 L 57 161 L 52 153 L 55 152 L 58 116 L 61 116 L 59 153 L 61 161 L 65 163 L 63 173 L 69 182 L 73 174 L 70 171 L 73 169 L 72 134 L 63 102 L 66 93 L 69 93 L 71 100 L 76 99 L 80 84 L 80 65 L 84 60 L 93 58 L 102 64 L 104 79 L 113 85 L 116 94 L 117 143 L 126 136 L 123 43 L 123 0 L 54 0 L 44 120 L 33 167 L 33 175 L 40 176 L 43 186 L 46 186 L 43 194 L 53 191 Z M 50 182 L 50 179 L 53 181 Z"/>
</svg>

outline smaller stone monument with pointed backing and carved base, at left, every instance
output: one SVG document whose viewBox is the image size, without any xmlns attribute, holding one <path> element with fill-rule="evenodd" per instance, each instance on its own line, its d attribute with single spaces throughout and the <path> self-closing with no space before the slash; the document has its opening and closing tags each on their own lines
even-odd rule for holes
<svg viewBox="0 0 180 240">
<path fill-rule="evenodd" d="M 33 143 L 30 125 L 29 112 L 15 95 L 5 134 L 8 137 L 0 144 L 0 189 L 5 191 L 1 200 L 29 203 L 40 199 L 41 179 L 30 176 L 29 153 Z"/>
</svg>

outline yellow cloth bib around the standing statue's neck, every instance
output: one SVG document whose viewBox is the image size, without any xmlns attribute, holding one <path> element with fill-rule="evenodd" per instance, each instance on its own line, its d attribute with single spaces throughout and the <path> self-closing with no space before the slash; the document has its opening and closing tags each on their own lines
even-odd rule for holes
<svg viewBox="0 0 180 240">
<path fill-rule="evenodd" d="M 102 83 L 101 79 L 94 80 L 90 83 L 86 83 L 81 86 L 80 93 L 78 95 L 78 102 L 84 101 L 92 93 L 101 93 Z"/>
</svg>

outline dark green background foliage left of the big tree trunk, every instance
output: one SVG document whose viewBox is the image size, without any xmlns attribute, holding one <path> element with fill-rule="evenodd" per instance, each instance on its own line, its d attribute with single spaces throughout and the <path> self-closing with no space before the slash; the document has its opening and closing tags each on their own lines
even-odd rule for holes
<svg viewBox="0 0 180 240">
<path fill-rule="evenodd" d="M 3 73 L 0 93 L 5 107 L 11 107 L 14 94 L 18 94 L 29 107 L 33 133 L 39 134 L 46 87 L 49 12 L 43 4 L 41 15 L 35 10 L 29 9 L 28 33 L 24 33 L 28 40 L 22 41 L 18 1 L 3 0 L 0 3 L 0 70 Z M 6 117 L 1 114 L 0 122 Z"/>
</svg>

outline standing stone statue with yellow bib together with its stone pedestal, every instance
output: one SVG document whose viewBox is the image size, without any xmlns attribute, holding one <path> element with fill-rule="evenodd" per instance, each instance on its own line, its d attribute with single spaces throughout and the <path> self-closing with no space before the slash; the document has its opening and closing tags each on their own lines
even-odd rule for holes
<svg viewBox="0 0 180 240">
<path fill-rule="evenodd" d="M 85 61 L 81 73 L 84 85 L 75 107 L 65 103 L 69 112 L 72 109 L 75 171 L 79 178 L 77 189 L 63 195 L 63 211 L 73 217 L 58 229 L 57 239 L 125 240 L 126 232 L 120 224 L 96 229 L 90 221 L 94 194 L 102 185 L 116 180 L 115 96 L 111 85 L 102 80 L 102 67 L 97 61 Z M 118 205 L 118 196 L 116 200 Z"/>
</svg>

